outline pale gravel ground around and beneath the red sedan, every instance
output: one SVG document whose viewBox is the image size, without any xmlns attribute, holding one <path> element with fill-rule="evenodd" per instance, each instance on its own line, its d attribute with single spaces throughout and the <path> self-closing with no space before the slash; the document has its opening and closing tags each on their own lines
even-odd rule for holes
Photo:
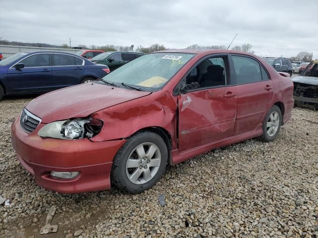
<svg viewBox="0 0 318 238">
<path fill-rule="evenodd" d="M 10 200 L 0 237 L 318 237 L 318 112 L 295 108 L 276 141 L 197 156 L 142 194 L 63 195 L 40 188 L 12 149 L 10 124 L 30 100 L 0 101 L 0 196 Z M 58 232 L 40 235 L 52 205 Z"/>
</svg>

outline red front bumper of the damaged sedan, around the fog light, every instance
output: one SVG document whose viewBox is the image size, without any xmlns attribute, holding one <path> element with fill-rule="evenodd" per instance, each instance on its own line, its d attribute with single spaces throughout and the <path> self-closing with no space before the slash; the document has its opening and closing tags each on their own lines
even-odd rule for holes
<svg viewBox="0 0 318 238">
<path fill-rule="evenodd" d="M 38 127 L 30 134 L 15 120 L 11 141 L 21 165 L 35 176 L 38 185 L 61 193 L 79 193 L 110 188 L 113 158 L 126 140 L 91 142 L 88 139 L 41 138 Z M 80 172 L 74 179 L 57 179 L 51 171 Z"/>
</svg>

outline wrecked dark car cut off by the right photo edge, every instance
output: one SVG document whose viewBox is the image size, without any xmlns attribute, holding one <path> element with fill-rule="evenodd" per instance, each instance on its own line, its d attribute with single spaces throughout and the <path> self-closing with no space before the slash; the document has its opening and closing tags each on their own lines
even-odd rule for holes
<svg viewBox="0 0 318 238">
<path fill-rule="evenodd" d="M 318 60 L 309 63 L 293 82 L 295 104 L 318 111 Z"/>
</svg>

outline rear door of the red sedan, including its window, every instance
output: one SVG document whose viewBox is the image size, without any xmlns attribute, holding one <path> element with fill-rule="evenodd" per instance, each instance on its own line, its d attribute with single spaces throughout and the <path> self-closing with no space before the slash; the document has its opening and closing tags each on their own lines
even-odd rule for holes
<svg viewBox="0 0 318 238">
<path fill-rule="evenodd" d="M 238 113 L 234 135 L 261 128 L 274 89 L 269 74 L 257 60 L 232 55 L 238 91 Z"/>
</svg>

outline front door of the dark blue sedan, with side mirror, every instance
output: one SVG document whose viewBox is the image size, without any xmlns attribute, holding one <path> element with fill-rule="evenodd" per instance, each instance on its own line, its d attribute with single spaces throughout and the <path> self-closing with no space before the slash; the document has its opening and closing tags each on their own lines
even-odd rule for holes
<svg viewBox="0 0 318 238">
<path fill-rule="evenodd" d="M 17 63 L 23 63 L 24 68 L 15 68 L 12 65 L 7 71 L 8 84 L 12 93 L 50 91 L 52 85 L 50 53 L 30 55 Z"/>
</svg>

